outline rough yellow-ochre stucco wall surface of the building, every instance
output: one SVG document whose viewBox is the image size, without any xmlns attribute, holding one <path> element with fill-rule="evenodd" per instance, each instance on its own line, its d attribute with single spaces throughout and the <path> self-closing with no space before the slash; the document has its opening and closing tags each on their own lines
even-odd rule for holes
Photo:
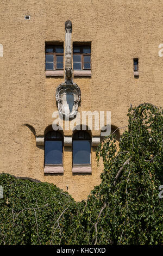
<svg viewBox="0 0 163 256">
<path fill-rule="evenodd" d="M 71 20 L 73 41 L 91 41 L 92 77 L 74 78 L 82 93 L 80 111 L 111 111 L 111 124 L 127 124 L 127 111 L 143 102 L 162 106 L 163 4 L 161 1 L 0 1 L 1 172 L 53 182 L 85 199 L 99 184 L 92 151 L 92 175 L 72 175 L 72 149 L 64 149 L 64 175 L 43 174 L 43 135 L 57 110 L 55 90 L 64 78 L 46 78 L 45 41 L 63 41 Z M 24 20 L 30 15 L 30 20 Z M 139 79 L 133 58 L 139 57 Z M 71 132 L 65 131 L 65 135 Z M 93 131 L 93 135 L 99 135 Z"/>
</svg>

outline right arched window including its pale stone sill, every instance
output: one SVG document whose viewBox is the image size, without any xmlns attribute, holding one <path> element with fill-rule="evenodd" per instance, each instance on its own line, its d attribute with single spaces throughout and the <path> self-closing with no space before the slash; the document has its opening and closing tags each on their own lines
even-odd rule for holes
<svg viewBox="0 0 163 256">
<path fill-rule="evenodd" d="M 85 131 L 73 135 L 72 172 L 91 172 L 91 136 Z"/>
</svg>

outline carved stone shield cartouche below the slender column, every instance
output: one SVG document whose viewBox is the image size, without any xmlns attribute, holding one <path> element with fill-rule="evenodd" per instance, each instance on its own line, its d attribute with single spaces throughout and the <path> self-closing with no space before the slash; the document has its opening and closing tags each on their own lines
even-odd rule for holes
<svg viewBox="0 0 163 256">
<path fill-rule="evenodd" d="M 80 88 L 76 83 L 61 83 L 57 87 L 56 100 L 58 111 L 61 116 L 74 118 L 78 112 L 78 103 L 81 99 Z"/>
</svg>

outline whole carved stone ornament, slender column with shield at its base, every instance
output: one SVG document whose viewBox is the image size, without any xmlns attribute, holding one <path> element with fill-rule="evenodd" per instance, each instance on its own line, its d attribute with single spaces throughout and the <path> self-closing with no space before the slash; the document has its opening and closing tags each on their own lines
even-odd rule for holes
<svg viewBox="0 0 163 256">
<path fill-rule="evenodd" d="M 81 99 L 80 88 L 73 83 L 72 51 L 71 51 L 71 21 L 65 22 L 65 82 L 56 90 L 56 100 L 59 114 L 63 117 L 74 118 L 78 112 L 78 103 Z"/>
</svg>

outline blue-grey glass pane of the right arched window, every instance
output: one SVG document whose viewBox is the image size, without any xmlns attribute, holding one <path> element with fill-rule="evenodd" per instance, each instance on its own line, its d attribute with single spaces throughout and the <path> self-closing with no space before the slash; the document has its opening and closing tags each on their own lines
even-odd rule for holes
<svg viewBox="0 0 163 256">
<path fill-rule="evenodd" d="M 73 141 L 73 164 L 90 164 L 90 156 L 90 141 Z"/>
</svg>

